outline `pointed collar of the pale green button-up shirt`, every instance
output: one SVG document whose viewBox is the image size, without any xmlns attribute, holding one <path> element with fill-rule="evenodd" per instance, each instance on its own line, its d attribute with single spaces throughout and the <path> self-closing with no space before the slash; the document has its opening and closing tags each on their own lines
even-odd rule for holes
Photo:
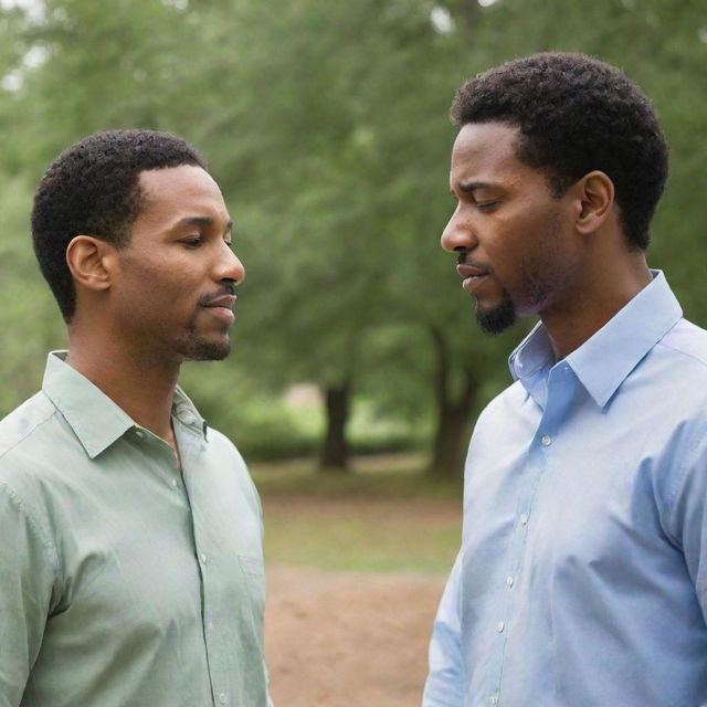
<svg viewBox="0 0 707 707">
<path fill-rule="evenodd" d="M 66 354 L 50 352 L 42 390 L 71 425 L 86 454 L 94 458 L 128 430 L 139 425 L 99 388 L 66 363 Z M 205 439 L 207 422 L 179 387 L 175 390 L 172 414 Z"/>
</svg>

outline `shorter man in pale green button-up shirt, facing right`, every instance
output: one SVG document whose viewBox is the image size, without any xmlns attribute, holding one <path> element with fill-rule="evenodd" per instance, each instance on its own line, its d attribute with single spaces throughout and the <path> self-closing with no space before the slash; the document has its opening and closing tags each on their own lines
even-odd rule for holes
<svg viewBox="0 0 707 707">
<path fill-rule="evenodd" d="M 231 225 L 172 135 L 89 136 L 40 183 L 70 348 L 0 422 L 0 707 L 268 704 L 260 500 L 177 386 L 229 352 Z"/>
</svg>

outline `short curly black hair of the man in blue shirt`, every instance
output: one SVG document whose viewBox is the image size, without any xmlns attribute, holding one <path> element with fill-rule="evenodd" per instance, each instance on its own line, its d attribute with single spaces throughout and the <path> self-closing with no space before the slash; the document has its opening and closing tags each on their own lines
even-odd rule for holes
<svg viewBox="0 0 707 707">
<path fill-rule="evenodd" d="M 619 68 L 579 53 L 516 59 L 464 83 L 450 115 L 458 126 L 517 126 L 518 159 L 546 173 L 556 198 L 588 172 L 605 172 L 630 246 L 647 247 L 668 147 L 651 101 Z"/>
</svg>

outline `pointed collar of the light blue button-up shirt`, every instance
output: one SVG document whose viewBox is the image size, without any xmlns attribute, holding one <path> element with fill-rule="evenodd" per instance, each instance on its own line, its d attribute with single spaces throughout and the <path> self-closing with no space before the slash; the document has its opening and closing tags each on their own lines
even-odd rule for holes
<svg viewBox="0 0 707 707">
<path fill-rule="evenodd" d="M 683 316 L 663 273 L 651 272 L 653 282 L 566 359 L 601 408 Z M 529 392 L 528 386 L 534 386 L 532 373 L 544 367 L 549 370 L 552 363 L 552 348 L 542 324 L 535 327 L 509 359 L 511 376 Z"/>
</svg>

